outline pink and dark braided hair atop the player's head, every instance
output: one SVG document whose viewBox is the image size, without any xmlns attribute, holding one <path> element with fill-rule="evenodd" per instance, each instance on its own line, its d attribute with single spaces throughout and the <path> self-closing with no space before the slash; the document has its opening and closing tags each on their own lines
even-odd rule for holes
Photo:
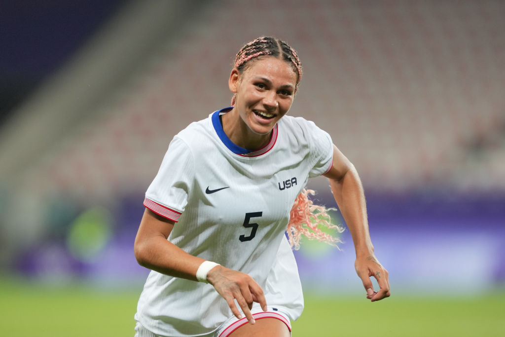
<svg viewBox="0 0 505 337">
<path fill-rule="evenodd" d="M 296 89 L 298 89 L 298 84 L 300 83 L 302 67 L 298 54 L 295 50 L 287 44 L 285 41 L 280 40 L 271 36 L 260 36 L 246 43 L 235 57 L 235 67 L 242 73 L 249 61 L 254 61 L 261 56 L 273 56 L 276 58 L 282 58 L 284 61 L 288 62 L 293 70 L 296 72 Z M 234 106 L 236 101 L 236 94 L 233 95 L 231 99 L 231 105 Z"/>
</svg>

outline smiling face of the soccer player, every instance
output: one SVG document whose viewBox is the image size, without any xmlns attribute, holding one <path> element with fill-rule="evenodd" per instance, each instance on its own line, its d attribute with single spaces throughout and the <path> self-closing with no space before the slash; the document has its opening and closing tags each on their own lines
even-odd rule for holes
<svg viewBox="0 0 505 337">
<path fill-rule="evenodd" d="M 268 141 L 274 125 L 291 108 L 296 83 L 297 74 L 292 66 L 272 56 L 258 58 L 242 73 L 236 68 L 232 70 L 229 87 L 236 93 L 236 102 L 231 115 L 240 117 L 237 124 L 241 136 L 249 138 L 247 142 Z"/>
</svg>

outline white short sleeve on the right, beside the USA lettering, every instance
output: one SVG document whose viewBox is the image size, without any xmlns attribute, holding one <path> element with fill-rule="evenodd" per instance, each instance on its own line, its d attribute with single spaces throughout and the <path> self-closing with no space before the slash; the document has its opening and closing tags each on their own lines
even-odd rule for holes
<svg viewBox="0 0 505 337">
<path fill-rule="evenodd" d="M 309 177 L 317 177 L 327 173 L 333 165 L 333 141 L 328 132 L 321 130 L 314 124 L 308 122 L 308 134 L 311 138 L 311 163 L 312 168 Z"/>
</svg>

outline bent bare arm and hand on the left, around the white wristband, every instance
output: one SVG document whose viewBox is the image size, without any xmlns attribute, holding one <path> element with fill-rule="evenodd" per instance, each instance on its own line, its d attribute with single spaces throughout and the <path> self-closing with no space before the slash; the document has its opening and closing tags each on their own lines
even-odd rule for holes
<svg viewBox="0 0 505 337">
<path fill-rule="evenodd" d="M 167 240 L 174 225 L 173 221 L 145 209 L 135 237 L 135 258 L 143 267 L 166 275 L 196 281 L 196 271 L 205 260 L 186 253 Z M 254 318 L 250 313 L 252 302 L 260 303 L 261 307 L 267 310 L 262 288 L 249 275 L 224 266 L 216 266 L 207 274 L 207 280 L 226 300 L 237 318 L 241 318 L 242 315 L 235 306 L 234 300 L 237 300 L 242 312 L 251 323 L 254 323 Z"/>
</svg>

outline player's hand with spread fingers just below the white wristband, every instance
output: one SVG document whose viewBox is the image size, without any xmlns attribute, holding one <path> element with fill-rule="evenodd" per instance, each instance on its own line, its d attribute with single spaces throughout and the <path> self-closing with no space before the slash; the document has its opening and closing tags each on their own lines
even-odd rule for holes
<svg viewBox="0 0 505 337">
<path fill-rule="evenodd" d="M 263 289 L 248 274 L 219 265 L 207 273 L 207 280 L 214 286 L 219 295 L 226 300 L 231 311 L 238 319 L 242 318 L 242 314 L 237 309 L 234 300 L 237 300 L 242 312 L 251 324 L 255 323 L 255 319 L 250 312 L 253 302 L 259 303 L 262 309 L 267 311 L 267 301 Z"/>
</svg>

